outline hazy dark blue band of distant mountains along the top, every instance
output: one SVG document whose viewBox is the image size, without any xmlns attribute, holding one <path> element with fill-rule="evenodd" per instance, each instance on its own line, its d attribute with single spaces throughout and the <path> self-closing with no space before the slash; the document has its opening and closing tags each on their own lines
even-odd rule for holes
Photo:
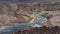
<svg viewBox="0 0 60 34">
<path fill-rule="evenodd" d="M 13 3 L 13 2 L 56 2 L 60 0 L 0 0 L 4 3 Z"/>
</svg>

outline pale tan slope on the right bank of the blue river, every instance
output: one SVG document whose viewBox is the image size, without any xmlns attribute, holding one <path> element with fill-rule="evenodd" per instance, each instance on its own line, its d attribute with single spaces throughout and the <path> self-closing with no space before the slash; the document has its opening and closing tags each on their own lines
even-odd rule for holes
<svg viewBox="0 0 60 34">
<path fill-rule="evenodd" d="M 60 26 L 60 11 L 42 11 L 41 15 L 47 18 L 48 26 Z"/>
</svg>

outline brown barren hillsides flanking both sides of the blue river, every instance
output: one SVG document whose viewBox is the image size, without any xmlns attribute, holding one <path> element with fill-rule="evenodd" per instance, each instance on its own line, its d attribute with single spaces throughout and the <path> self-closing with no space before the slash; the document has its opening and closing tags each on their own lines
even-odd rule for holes
<svg viewBox="0 0 60 34">
<path fill-rule="evenodd" d="M 48 26 L 60 26 L 60 2 L 53 3 L 0 3 L 0 24 L 28 23 L 34 17 L 33 9 L 39 9 L 41 16 L 47 18 Z"/>
</svg>

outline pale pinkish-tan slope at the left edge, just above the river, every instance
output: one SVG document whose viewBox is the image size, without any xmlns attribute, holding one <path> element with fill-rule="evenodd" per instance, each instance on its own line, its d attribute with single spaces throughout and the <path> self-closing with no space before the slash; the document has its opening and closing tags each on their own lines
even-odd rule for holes
<svg viewBox="0 0 60 34">
<path fill-rule="evenodd" d="M 16 19 L 14 16 L 0 14 L 0 26 L 12 24 Z"/>
</svg>

